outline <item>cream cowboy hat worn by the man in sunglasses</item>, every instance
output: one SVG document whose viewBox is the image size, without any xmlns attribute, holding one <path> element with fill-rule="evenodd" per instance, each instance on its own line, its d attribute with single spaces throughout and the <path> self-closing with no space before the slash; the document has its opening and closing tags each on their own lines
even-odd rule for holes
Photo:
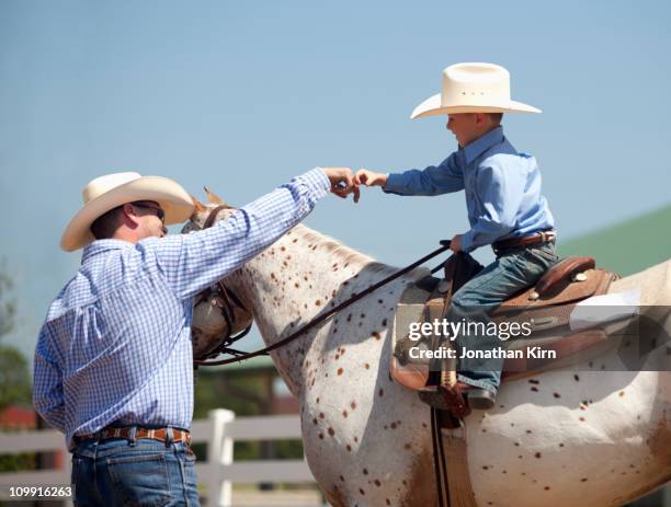
<svg viewBox="0 0 671 507">
<path fill-rule="evenodd" d="M 166 224 L 181 223 L 194 210 L 189 193 L 172 180 L 141 176 L 138 173 L 114 173 L 91 180 L 82 191 L 83 207 L 75 215 L 60 239 L 67 252 L 81 249 L 95 238 L 91 224 L 111 209 L 136 200 L 153 200 L 166 212 Z"/>
</svg>

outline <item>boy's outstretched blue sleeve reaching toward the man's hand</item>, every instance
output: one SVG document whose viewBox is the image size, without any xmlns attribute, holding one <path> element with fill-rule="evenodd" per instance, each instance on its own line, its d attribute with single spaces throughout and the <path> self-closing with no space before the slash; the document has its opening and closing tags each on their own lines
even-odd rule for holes
<svg viewBox="0 0 671 507">
<path fill-rule="evenodd" d="M 464 174 L 457 152 L 447 157 L 440 165 L 423 170 L 410 169 L 402 173 L 389 174 L 383 192 L 397 195 L 441 195 L 464 189 Z"/>
</svg>

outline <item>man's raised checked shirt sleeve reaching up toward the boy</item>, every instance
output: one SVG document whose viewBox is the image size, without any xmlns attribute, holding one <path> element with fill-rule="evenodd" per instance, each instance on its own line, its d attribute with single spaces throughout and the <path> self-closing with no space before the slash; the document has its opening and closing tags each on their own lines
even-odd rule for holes
<svg viewBox="0 0 671 507">
<path fill-rule="evenodd" d="M 329 178 L 316 168 L 209 229 L 157 240 L 159 268 L 179 297 L 193 297 L 274 243 L 303 220 L 329 188 Z"/>
</svg>

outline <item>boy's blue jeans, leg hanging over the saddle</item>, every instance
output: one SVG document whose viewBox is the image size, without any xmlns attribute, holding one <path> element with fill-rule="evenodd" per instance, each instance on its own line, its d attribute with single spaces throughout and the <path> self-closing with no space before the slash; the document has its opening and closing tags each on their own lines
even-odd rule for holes
<svg viewBox="0 0 671 507">
<path fill-rule="evenodd" d="M 534 285 L 558 261 L 555 242 L 541 246 L 516 250 L 497 257 L 474 278 L 468 280 L 452 298 L 446 319 L 452 322 L 489 322 L 488 314 L 501 302 L 522 289 Z M 457 354 L 466 347 L 471 352 L 504 348 L 505 343 L 492 335 L 457 335 Z M 457 379 L 486 389 L 496 394 L 501 383 L 503 358 L 459 359 Z"/>
</svg>

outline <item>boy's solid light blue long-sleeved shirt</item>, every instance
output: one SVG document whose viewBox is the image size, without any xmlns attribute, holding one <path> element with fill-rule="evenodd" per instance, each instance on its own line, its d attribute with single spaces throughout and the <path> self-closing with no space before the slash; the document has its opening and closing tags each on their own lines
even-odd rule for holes
<svg viewBox="0 0 671 507">
<path fill-rule="evenodd" d="M 440 195 L 465 191 L 470 230 L 462 249 L 470 252 L 497 240 L 550 229 L 555 220 L 541 194 L 536 159 L 518 150 L 497 127 L 440 165 L 389 174 L 383 191 L 398 195 Z"/>
</svg>

